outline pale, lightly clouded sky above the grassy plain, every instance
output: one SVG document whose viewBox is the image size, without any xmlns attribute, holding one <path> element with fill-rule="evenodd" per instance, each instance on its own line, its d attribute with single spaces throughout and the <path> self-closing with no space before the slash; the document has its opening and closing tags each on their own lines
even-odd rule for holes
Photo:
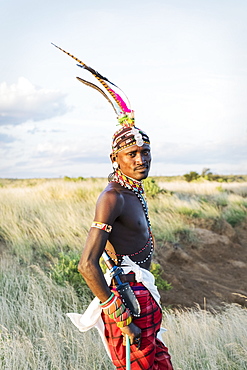
<svg viewBox="0 0 247 370">
<path fill-rule="evenodd" d="M 107 177 L 126 93 L 150 175 L 247 174 L 245 0 L 0 0 L 0 178 Z"/>
</svg>

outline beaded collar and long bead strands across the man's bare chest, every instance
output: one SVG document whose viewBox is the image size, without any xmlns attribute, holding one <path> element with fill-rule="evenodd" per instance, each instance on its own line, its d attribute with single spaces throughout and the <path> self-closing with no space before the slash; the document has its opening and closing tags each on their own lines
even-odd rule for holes
<svg viewBox="0 0 247 370">
<path fill-rule="evenodd" d="M 114 177 L 111 180 L 111 182 L 117 182 L 118 184 L 123 186 L 125 189 L 131 190 L 141 202 L 141 205 L 142 205 L 142 208 L 143 208 L 146 220 L 147 220 L 147 224 L 148 224 L 149 238 L 148 238 L 148 241 L 147 241 L 146 245 L 143 248 L 141 248 L 138 252 L 133 253 L 133 254 L 125 254 L 125 256 L 127 255 L 129 257 L 133 257 L 133 256 L 143 252 L 151 244 L 150 252 L 147 255 L 147 257 L 142 261 L 135 261 L 135 263 L 140 265 L 140 264 L 148 261 L 151 258 L 152 254 L 153 254 L 153 250 L 154 250 L 153 235 L 152 235 L 152 231 L 151 231 L 151 223 L 150 223 L 149 216 L 148 216 L 148 205 L 147 205 L 147 201 L 145 199 L 143 184 L 142 184 L 141 181 L 134 180 L 131 177 L 128 177 L 128 176 L 124 175 L 119 169 L 116 170 L 116 172 L 114 174 Z M 124 256 L 124 255 L 120 255 L 120 254 L 116 254 L 116 253 L 115 253 L 115 255 L 116 256 L 121 256 L 121 257 Z"/>
</svg>

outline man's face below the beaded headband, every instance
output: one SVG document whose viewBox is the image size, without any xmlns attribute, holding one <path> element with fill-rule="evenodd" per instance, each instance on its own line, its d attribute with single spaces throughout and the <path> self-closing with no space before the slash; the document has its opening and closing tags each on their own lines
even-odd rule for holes
<svg viewBox="0 0 247 370">
<path fill-rule="evenodd" d="M 150 145 L 133 145 L 123 149 L 117 154 L 116 161 L 126 176 L 138 181 L 143 180 L 148 176 L 150 169 Z"/>
</svg>

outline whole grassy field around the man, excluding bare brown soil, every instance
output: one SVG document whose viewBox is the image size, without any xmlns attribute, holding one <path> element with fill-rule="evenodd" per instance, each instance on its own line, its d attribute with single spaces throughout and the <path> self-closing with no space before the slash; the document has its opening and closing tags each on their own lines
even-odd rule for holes
<svg viewBox="0 0 247 370">
<path fill-rule="evenodd" d="M 76 259 L 105 185 L 105 179 L 0 181 L 1 369 L 113 369 L 97 333 L 80 333 L 65 315 L 82 312 L 90 300 Z M 247 217 L 246 182 L 159 178 L 146 189 L 160 244 L 193 238 L 193 218 L 237 226 Z M 163 318 L 176 370 L 247 369 L 246 309 L 164 309 Z"/>
</svg>

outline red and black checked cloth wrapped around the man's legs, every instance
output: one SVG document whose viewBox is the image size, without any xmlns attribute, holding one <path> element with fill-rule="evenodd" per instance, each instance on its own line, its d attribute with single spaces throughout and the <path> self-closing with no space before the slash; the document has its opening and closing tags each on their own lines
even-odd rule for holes
<svg viewBox="0 0 247 370">
<path fill-rule="evenodd" d="M 141 306 L 141 317 L 133 323 L 142 330 L 141 347 L 130 347 L 131 370 L 173 370 L 168 348 L 157 338 L 162 321 L 162 312 L 147 289 L 141 283 L 130 283 Z M 136 290 L 140 286 L 142 290 Z M 118 370 L 126 369 L 126 347 L 123 335 L 114 320 L 102 313 L 105 336 L 109 345 L 112 362 Z"/>
</svg>

